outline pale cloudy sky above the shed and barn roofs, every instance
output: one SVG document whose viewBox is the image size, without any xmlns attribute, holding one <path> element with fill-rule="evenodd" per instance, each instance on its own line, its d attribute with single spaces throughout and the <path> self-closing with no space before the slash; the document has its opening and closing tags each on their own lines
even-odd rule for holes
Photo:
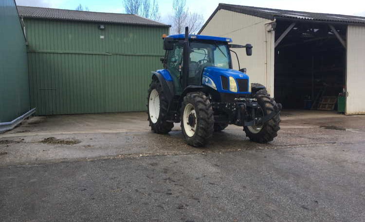
<svg viewBox="0 0 365 222">
<path fill-rule="evenodd" d="M 157 0 L 161 21 L 169 23 L 172 0 Z M 123 0 L 16 0 L 18 5 L 75 9 L 78 4 L 94 12 L 124 13 Z M 365 0 L 186 0 L 192 12 L 203 14 L 208 19 L 219 3 L 256 7 L 287 9 L 295 11 L 323 12 L 365 17 Z"/>
</svg>

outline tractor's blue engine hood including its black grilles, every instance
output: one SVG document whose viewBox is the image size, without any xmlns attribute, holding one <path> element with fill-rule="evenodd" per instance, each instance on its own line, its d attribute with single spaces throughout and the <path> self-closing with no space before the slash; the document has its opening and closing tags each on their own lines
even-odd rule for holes
<svg viewBox="0 0 365 222">
<path fill-rule="evenodd" d="M 237 92 L 230 91 L 229 77 L 234 78 L 238 88 Z M 211 87 L 212 84 L 209 83 L 209 79 L 213 80 L 218 92 L 241 94 L 250 93 L 248 75 L 237 70 L 207 66 L 203 71 L 202 84 Z"/>
</svg>

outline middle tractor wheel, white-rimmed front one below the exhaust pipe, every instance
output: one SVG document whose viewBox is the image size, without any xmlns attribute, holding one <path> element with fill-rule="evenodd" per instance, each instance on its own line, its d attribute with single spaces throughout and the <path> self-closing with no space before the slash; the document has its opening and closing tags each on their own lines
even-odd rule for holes
<svg viewBox="0 0 365 222">
<path fill-rule="evenodd" d="M 181 129 L 187 144 L 202 147 L 214 131 L 213 108 L 201 92 L 188 93 L 181 108 Z"/>
</svg>

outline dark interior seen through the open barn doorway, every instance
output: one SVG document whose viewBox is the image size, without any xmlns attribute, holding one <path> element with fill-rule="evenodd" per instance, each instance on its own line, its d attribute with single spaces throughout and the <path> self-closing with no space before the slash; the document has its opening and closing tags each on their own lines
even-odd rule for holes
<svg viewBox="0 0 365 222">
<path fill-rule="evenodd" d="M 335 32 L 346 41 L 346 26 L 277 21 L 275 42 L 291 25 L 275 47 L 275 99 L 284 109 L 318 109 L 324 96 L 337 98 L 345 87 L 346 50 Z"/>
</svg>

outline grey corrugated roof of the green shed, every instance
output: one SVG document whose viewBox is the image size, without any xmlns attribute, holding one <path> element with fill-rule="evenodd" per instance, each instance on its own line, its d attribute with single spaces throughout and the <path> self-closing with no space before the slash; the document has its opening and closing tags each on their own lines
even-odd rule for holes
<svg viewBox="0 0 365 222">
<path fill-rule="evenodd" d="M 157 22 L 151 19 L 146 19 L 132 14 L 87 12 L 87 11 L 29 7 L 29 6 L 18 6 L 18 13 L 19 16 L 24 18 L 93 21 L 93 22 L 119 23 L 119 24 L 131 24 L 131 25 L 170 27 L 170 25 L 166 25 L 161 22 Z"/>
</svg>

